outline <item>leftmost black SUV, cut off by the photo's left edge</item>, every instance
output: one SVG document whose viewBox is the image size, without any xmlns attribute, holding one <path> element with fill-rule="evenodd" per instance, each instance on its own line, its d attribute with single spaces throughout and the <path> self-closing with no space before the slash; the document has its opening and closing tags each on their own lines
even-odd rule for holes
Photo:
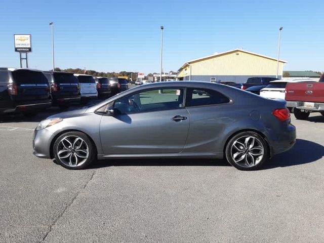
<svg viewBox="0 0 324 243">
<path fill-rule="evenodd" d="M 31 116 L 51 105 L 49 83 L 42 71 L 0 68 L 0 113 Z"/>
</svg>

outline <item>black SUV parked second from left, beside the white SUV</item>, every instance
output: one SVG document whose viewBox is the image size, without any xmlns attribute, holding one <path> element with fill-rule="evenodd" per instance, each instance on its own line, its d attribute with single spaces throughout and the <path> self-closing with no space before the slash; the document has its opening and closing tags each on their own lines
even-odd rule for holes
<svg viewBox="0 0 324 243">
<path fill-rule="evenodd" d="M 77 78 L 69 72 L 44 71 L 51 88 L 53 105 L 67 108 L 72 102 L 80 102 Z"/>
</svg>

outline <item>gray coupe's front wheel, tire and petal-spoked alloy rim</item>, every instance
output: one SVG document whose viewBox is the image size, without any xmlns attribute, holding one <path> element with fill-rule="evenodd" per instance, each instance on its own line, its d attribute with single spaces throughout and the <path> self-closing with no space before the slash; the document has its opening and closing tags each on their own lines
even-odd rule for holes
<svg viewBox="0 0 324 243">
<path fill-rule="evenodd" d="M 59 136 L 53 145 L 57 163 L 67 169 L 88 167 L 96 158 L 96 149 L 84 133 L 67 132 Z"/>
</svg>

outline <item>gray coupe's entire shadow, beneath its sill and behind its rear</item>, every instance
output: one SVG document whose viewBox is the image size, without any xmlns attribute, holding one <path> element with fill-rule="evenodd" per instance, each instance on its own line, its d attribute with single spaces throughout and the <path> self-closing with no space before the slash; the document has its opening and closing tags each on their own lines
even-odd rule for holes
<svg viewBox="0 0 324 243">
<path fill-rule="evenodd" d="M 320 144 L 297 139 L 289 151 L 272 157 L 261 170 L 308 164 L 324 156 L 324 147 Z M 88 169 L 110 166 L 230 166 L 225 159 L 210 158 L 128 158 L 98 160 Z"/>
</svg>

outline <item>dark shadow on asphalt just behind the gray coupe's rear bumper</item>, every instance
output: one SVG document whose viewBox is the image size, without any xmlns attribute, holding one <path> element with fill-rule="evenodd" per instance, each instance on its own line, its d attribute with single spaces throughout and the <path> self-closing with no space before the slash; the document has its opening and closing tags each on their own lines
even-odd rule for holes
<svg viewBox="0 0 324 243">
<path fill-rule="evenodd" d="M 304 139 L 296 139 L 290 150 L 273 156 L 262 170 L 312 163 L 324 156 L 324 147 Z"/>
</svg>

